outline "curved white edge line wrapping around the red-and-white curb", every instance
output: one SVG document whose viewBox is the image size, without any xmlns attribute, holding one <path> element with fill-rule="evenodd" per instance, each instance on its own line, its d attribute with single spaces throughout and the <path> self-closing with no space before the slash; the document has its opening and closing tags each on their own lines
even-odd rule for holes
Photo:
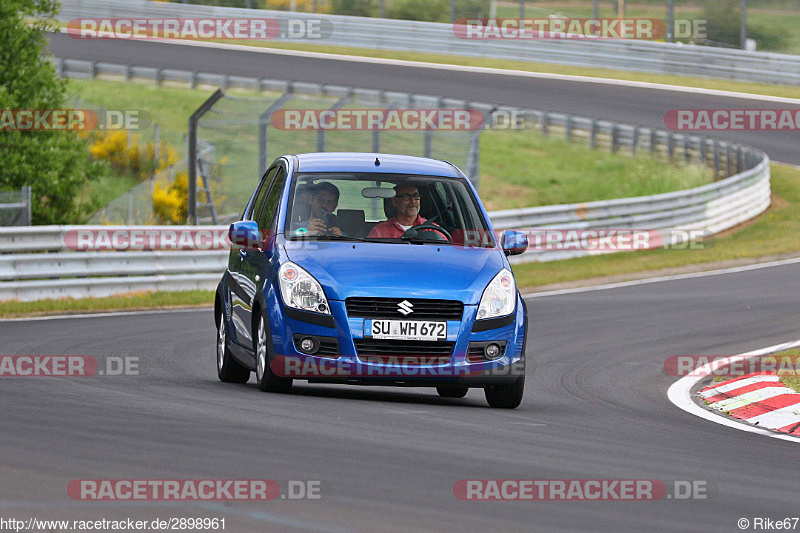
<svg viewBox="0 0 800 533">
<path fill-rule="evenodd" d="M 798 339 L 796 341 L 784 342 L 784 343 L 781 343 L 781 344 L 775 344 L 773 346 L 768 346 L 766 348 L 760 348 L 758 350 L 753 350 L 752 352 L 746 352 L 746 353 L 735 355 L 735 356 L 732 356 L 732 357 L 751 358 L 751 357 L 757 357 L 759 355 L 766 355 L 766 354 L 770 354 L 770 353 L 782 352 L 784 350 L 789 350 L 791 348 L 796 348 L 798 346 L 800 346 L 800 339 Z M 725 364 L 725 362 L 730 360 L 732 357 L 728 357 L 726 359 L 717 360 L 717 361 L 715 361 L 715 364 L 717 364 L 717 365 L 719 365 L 720 363 Z M 704 373 L 707 373 L 707 372 L 711 372 L 712 370 L 713 370 L 712 369 L 712 365 L 709 363 L 707 365 L 704 365 L 704 366 L 698 368 L 695 372 L 696 373 L 700 373 L 700 374 L 704 374 Z M 690 392 L 692 390 L 692 387 L 694 387 L 694 385 L 698 381 L 703 379 L 704 377 L 705 377 L 704 375 L 700 375 L 700 376 L 689 375 L 689 376 L 684 376 L 681 379 L 679 379 L 678 381 L 676 381 L 675 383 L 673 383 L 672 386 L 670 386 L 669 390 L 667 390 L 667 397 L 669 398 L 669 401 L 672 402 L 676 407 L 686 411 L 687 413 L 693 414 L 695 416 L 699 416 L 700 418 L 704 418 L 706 420 L 710 420 L 711 422 L 714 422 L 716 424 L 721 424 L 723 426 L 728 426 L 728 427 L 731 427 L 731 428 L 734 428 L 734 429 L 738 429 L 738 430 L 741 430 L 741 431 L 748 431 L 750 433 L 757 433 L 759 435 L 765 435 L 767 437 L 772 437 L 772 438 L 775 438 L 775 439 L 788 440 L 788 441 L 791 441 L 791 442 L 800 442 L 800 437 L 796 437 L 796 436 L 789 435 L 789 434 L 776 433 L 776 432 L 773 432 L 773 431 L 767 431 L 767 430 L 760 429 L 760 428 L 757 428 L 755 426 L 749 425 L 747 422 L 744 422 L 744 421 L 737 422 L 737 421 L 725 418 L 725 417 L 723 417 L 721 415 L 714 414 L 711 411 L 703 409 L 702 407 L 697 405 L 692 400 Z"/>
</svg>

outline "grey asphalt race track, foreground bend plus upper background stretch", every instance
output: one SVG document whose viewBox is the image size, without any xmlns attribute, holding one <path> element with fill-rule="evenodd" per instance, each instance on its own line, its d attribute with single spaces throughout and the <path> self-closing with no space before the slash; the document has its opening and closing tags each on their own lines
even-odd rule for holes
<svg viewBox="0 0 800 533">
<path fill-rule="evenodd" d="M 53 52 L 347 80 L 653 125 L 676 107 L 784 107 L 452 72 L 410 76 L 395 67 L 155 43 L 58 37 Z M 800 162 L 788 135 L 732 135 Z M 433 389 L 299 383 L 278 395 L 261 393 L 254 378 L 221 383 L 211 310 L 0 322 L 3 354 L 137 357 L 140 367 L 139 375 L 0 380 L 0 516 L 225 517 L 230 531 L 739 531 L 742 517 L 798 516 L 797 444 L 679 410 L 666 395 L 676 378 L 663 370 L 670 355 L 730 355 L 797 339 L 798 294 L 800 265 L 792 264 L 530 298 L 528 357 L 536 365 L 513 411 L 488 408 L 479 390 L 452 400 Z M 86 478 L 263 478 L 282 487 L 319 480 L 322 488 L 319 500 L 266 503 L 71 500 L 68 483 Z M 691 480 L 707 482 L 708 494 L 466 502 L 453 494 L 462 479 Z"/>
</svg>

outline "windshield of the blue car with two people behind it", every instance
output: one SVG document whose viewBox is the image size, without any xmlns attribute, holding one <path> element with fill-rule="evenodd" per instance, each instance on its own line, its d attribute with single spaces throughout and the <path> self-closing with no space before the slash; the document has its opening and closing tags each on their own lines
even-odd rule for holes
<svg viewBox="0 0 800 533">
<path fill-rule="evenodd" d="M 399 174 L 298 174 L 292 182 L 285 236 L 495 246 L 464 179 Z"/>
</svg>

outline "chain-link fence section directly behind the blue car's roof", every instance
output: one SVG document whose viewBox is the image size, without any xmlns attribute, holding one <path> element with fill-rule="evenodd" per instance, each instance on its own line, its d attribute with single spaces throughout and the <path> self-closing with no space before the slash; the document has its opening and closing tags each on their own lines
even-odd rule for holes
<svg viewBox="0 0 800 533">
<path fill-rule="evenodd" d="M 282 119 L 276 118 L 302 111 L 318 116 L 323 111 L 341 115 L 348 110 L 456 110 L 463 108 L 464 102 L 309 83 L 268 83 L 272 90 L 258 96 L 225 93 L 199 119 L 197 139 L 206 148 L 198 151 L 198 223 L 225 223 L 238 218 L 269 163 L 288 153 L 376 152 L 434 157 L 447 159 L 477 178 L 475 152 L 480 132 L 476 130 L 286 129 L 281 127 Z"/>
</svg>

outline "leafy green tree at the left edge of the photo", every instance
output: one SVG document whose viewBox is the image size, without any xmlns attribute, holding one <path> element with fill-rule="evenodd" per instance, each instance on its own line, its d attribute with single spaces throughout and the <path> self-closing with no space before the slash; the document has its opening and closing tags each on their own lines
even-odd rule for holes
<svg viewBox="0 0 800 533">
<path fill-rule="evenodd" d="M 56 0 L 0 1 L 0 110 L 63 109 L 66 81 L 43 55 Z M 0 130 L 0 189 L 31 186 L 34 224 L 75 222 L 76 199 L 102 166 L 74 131 Z"/>
</svg>

